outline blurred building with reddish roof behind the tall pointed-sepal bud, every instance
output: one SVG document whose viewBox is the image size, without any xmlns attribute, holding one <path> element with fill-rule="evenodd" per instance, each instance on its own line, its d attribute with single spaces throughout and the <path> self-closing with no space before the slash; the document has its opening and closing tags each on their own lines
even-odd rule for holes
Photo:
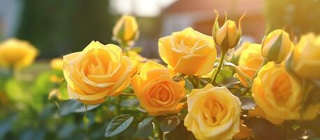
<svg viewBox="0 0 320 140">
<path fill-rule="evenodd" d="M 266 30 L 263 15 L 264 0 L 178 0 L 163 11 L 162 35 L 193 27 L 204 34 L 212 34 L 215 18 L 214 10 L 219 12 L 219 24 L 224 23 L 224 12 L 238 24 L 242 20 L 242 33 L 248 40 L 261 41 Z"/>
</svg>

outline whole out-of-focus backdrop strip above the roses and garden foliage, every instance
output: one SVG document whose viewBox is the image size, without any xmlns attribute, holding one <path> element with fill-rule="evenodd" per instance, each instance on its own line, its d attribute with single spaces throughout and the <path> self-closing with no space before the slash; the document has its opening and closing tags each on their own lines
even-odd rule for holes
<svg viewBox="0 0 320 140">
<path fill-rule="evenodd" d="M 136 46 L 157 58 L 161 36 L 185 27 L 210 35 L 218 10 L 242 21 L 245 40 L 260 43 L 266 29 L 289 29 L 296 36 L 320 31 L 319 0 L 0 0 L 0 41 L 16 37 L 40 50 L 38 59 L 82 50 L 90 41 L 114 43 L 112 27 L 122 14 L 140 25 Z M 220 22 L 220 23 L 221 23 Z"/>
</svg>

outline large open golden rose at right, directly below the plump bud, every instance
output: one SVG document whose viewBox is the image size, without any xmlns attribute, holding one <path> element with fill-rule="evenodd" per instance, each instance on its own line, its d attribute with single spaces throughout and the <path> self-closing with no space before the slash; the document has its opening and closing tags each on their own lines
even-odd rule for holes
<svg viewBox="0 0 320 140">
<path fill-rule="evenodd" d="M 284 64 L 268 62 L 263 66 L 252 85 L 254 101 L 272 123 L 283 120 L 310 120 L 319 113 L 319 104 L 308 107 L 300 116 L 303 99 L 302 84 L 291 76 Z"/>
</svg>

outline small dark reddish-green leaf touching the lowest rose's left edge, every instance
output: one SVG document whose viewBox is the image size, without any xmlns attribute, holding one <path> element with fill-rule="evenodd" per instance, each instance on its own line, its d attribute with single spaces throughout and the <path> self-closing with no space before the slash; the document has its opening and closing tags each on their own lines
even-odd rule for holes
<svg viewBox="0 0 320 140">
<path fill-rule="evenodd" d="M 180 119 L 178 116 L 168 116 L 163 118 L 160 123 L 160 128 L 162 132 L 170 132 L 175 129 L 180 124 Z"/>
</svg>

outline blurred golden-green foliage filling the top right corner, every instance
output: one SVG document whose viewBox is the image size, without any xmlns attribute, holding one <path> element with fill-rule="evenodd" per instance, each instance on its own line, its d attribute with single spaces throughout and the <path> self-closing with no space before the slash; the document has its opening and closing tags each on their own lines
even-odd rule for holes
<svg viewBox="0 0 320 140">
<path fill-rule="evenodd" d="M 297 36 L 320 33 L 319 0 L 266 0 L 266 16 L 270 30 L 286 28 Z"/>
</svg>

